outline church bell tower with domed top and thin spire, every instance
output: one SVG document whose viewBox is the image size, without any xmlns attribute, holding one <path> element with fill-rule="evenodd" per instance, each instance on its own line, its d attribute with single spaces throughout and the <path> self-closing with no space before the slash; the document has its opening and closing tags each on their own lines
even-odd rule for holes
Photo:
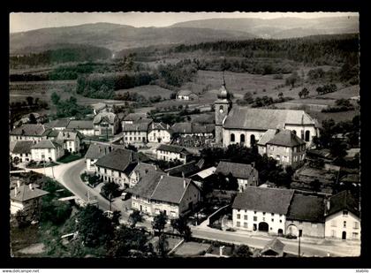
<svg viewBox="0 0 371 273">
<path fill-rule="evenodd" d="M 216 111 L 216 145 L 223 145 L 223 121 L 231 110 L 231 99 L 227 88 L 225 87 L 224 72 L 223 85 L 219 89 L 217 100 L 214 103 Z"/>
</svg>

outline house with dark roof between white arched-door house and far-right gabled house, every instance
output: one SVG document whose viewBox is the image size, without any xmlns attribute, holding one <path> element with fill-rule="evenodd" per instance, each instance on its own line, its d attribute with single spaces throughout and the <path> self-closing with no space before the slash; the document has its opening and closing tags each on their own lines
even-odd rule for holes
<svg viewBox="0 0 371 273">
<path fill-rule="evenodd" d="M 299 237 L 325 236 L 325 202 L 322 196 L 294 193 L 286 216 L 286 234 Z"/>
</svg>

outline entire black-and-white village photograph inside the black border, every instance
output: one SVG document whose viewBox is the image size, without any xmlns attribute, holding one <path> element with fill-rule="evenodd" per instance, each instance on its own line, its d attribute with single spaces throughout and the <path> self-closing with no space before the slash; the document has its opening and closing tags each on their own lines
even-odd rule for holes
<svg viewBox="0 0 371 273">
<path fill-rule="evenodd" d="M 9 19 L 11 257 L 360 257 L 358 12 Z"/>
</svg>

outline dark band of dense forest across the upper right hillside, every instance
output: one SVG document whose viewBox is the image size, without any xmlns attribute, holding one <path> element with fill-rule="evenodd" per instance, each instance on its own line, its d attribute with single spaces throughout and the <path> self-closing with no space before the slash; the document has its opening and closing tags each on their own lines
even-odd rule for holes
<svg viewBox="0 0 371 273">
<path fill-rule="evenodd" d="M 200 51 L 200 56 L 285 58 L 312 64 L 358 64 L 359 35 L 318 35 L 294 39 L 254 39 L 247 41 L 201 42 L 181 44 L 169 53 Z"/>
</svg>

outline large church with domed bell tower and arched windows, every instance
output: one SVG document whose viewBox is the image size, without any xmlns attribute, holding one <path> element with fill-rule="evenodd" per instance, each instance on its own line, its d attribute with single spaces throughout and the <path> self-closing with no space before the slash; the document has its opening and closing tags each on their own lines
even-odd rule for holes
<svg viewBox="0 0 371 273">
<path fill-rule="evenodd" d="M 291 130 L 307 148 L 313 146 L 314 136 L 319 136 L 319 124 L 304 110 L 254 109 L 233 106 L 230 94 L 223 82 L 217 100 L 216 145 L 228 147 L 241 144 L 252 147 L 269 129 Z"/>
</svg>

